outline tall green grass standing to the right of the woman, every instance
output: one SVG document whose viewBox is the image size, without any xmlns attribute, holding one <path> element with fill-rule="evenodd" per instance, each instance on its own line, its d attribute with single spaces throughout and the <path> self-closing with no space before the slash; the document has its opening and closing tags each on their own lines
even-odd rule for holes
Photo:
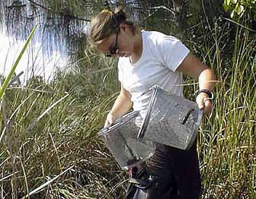
<svg viewBox="0 0 256 199">
<path fill-rule="evenodd" d="M 224 33 L 213 33 L 216 43 L 206 46 L 219 85 L 199 138 L 203 198 L 256 197 L 256 40 L 249 33 L 236 27 L 231 57 L 225 51 L 230 44 L 221 43 Z"/>
</svg>

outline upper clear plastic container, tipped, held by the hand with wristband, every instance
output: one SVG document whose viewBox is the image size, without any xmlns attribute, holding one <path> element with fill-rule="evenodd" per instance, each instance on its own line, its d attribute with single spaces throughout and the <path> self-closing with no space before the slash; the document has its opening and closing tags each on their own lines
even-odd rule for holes
<svg viewBox="0 0 256 199">
<path fill-rule="evenodd" d="M 197 103 L 154 86 L 146 116 L 139 129 L 139 141 L 154 141 L 182 150 L 194 143 L 203 110 Z"/>
</svg>

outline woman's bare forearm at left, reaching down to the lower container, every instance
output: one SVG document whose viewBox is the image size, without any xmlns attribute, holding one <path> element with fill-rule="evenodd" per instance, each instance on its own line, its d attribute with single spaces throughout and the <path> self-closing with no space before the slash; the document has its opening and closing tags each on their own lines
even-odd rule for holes
<svg viewBox="0 0 256 199">
<path fill-rule="evenodd" d="M 122 115 L 126 114 L 133 106 L 133 102 L 131 101 L 131 94 L 123 88 L 123 84 L 121 84 L 121 90 L 119 96 L 117 96 L 117 100 L 115 101 L 112 109 L 107 114 L 107 119 L 104 127 L 107 127 Z"/>
</svg>

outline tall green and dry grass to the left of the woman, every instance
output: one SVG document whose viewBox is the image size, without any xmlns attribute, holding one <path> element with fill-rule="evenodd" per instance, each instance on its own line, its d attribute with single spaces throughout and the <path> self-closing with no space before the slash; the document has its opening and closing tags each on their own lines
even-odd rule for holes
<svg viewBox="0 0 256 199">
<path fill-rule="evenodd" d="M 88 69 L 72 81 L 69 74 L 59 74 L 51 84 L 31 79 L 25 87 L 6 90 L 7 118 L 0 123 L 2 134 L 5 124 L 9 129 L 0 145 L 2 198 L 117 198 L 123 193 L 122 172 L 96 134 L 116 96 L 101 94 L 105 81 L 113 84 L 108 76 L 115 70 Z M 98 84 L 86 82 L 93 78 Z"/>
</svg>

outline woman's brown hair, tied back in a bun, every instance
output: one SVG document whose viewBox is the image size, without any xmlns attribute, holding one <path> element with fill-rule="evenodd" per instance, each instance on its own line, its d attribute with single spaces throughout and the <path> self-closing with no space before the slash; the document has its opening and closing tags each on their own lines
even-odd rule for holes
<svg viewBox="0 0 256 199">
<path fill-rule="evenodd" d="M 128 21 L 128 14 L 122 8 L 116 11 L 103 10 L 91 20 L 88 39 L 91 46 L 97 47 L 110 34 L 119 31 L 119 24 L 127 24 L 130 26 L 133 34 L 136 32 L 136 26 L 133 22 Z"/>
</svg>

